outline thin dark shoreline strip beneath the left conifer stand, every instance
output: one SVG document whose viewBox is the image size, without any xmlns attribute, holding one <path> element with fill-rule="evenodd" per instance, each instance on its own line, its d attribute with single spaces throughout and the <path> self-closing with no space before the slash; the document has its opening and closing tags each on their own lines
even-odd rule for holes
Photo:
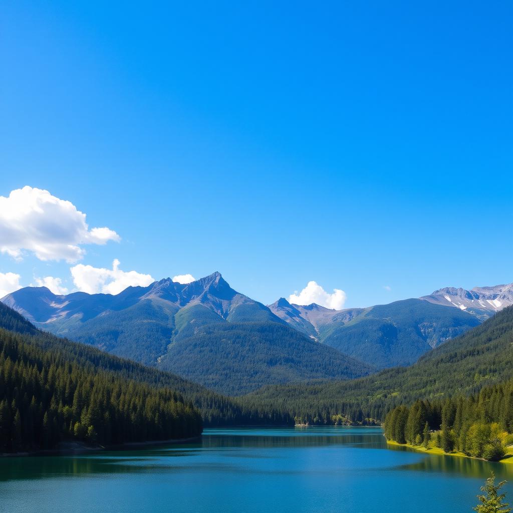
<svg viewBox="0 0 513 513">
<path fill-rule="evenodd" d="M 83 455 L 90 452 L 102 452 L 102 451 L 118 451 L 118 450 L 130 450 L 139 449 L 141 447 L 154 446 L 154 445 L 167 445 L 167 444 L 186 444 L 189 442 L 196 442 L 201 440 L 202 435 L 197 437 L 189 438 L 176 438 L 169 440 L 148 440 L 145 442 L 126 442 L 123 444 L 114 445 L 96 445 L 90 446 L 80 442 L 62 442 L 64 445 L 61 448 L 55 449 L 43 449 L 35 451 L 23 451 L 23 452 L 0 452 L 0 458 L 23 458 L 27 456 L 66 456 L 66 455 Z M 65 445 L 68 445 L 67 447 Z"/>
</svg>

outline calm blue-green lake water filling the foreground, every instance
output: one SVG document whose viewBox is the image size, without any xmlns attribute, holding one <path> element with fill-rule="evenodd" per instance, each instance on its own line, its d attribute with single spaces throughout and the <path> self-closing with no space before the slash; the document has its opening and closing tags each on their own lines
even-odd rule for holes
<svg viewBox="0 0 513 513">
<path fill-rule="evenodd" d="M 378 428 L 209 429 L 194 445 L 4 458 L 0 510 L 471 512 L 490 470 L 513 482 L 511 467 L 387 449 Z"/>
</svg>

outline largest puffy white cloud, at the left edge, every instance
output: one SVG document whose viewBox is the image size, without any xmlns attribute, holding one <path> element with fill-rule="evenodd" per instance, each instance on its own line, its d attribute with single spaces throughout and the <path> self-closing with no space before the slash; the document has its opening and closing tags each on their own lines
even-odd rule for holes
<svg viewBox="0 0 513 513">
<path fill-rule="evenodd" d="M 23 251 L 32 251 L 40 260 L 80 260 L 83 244 L 120 241 L 113 230 L 92 228 L 86 214 L 69 201 L 47 190 L 29 187 L 0 196 L 0 252 L 21 260 Z"/>
</svg>

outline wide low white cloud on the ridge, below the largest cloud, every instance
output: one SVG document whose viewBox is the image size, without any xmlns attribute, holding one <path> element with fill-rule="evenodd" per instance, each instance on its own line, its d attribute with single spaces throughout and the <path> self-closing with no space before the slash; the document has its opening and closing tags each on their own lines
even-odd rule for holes
<svg viewBox="0 0 513 513">
<path fill-rule="evenodd" d="M 155 280 L 150 274 L 141 274 L 136 271 L 122 271 L 120 261 L 114 259 L 112 269 L 93 267 L 91 265 L 77 264 L 71 267 L 73 283 L 78 290 L 96 294 L 119 294 L 127 287 L 147 287 Z"/>
</svg>

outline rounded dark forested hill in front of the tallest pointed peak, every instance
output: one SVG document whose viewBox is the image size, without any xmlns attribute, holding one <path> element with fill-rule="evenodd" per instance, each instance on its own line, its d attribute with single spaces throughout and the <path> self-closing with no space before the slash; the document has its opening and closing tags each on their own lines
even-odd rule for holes
<svg viewBox="0 0 513 513">
<path fill-rule="evenodd" d="M 159 367 L 229 395 L 268 383 L 351 379 L 374 369 L 277 323 L 215 323 L 175 338 Z"/>
</svg>

